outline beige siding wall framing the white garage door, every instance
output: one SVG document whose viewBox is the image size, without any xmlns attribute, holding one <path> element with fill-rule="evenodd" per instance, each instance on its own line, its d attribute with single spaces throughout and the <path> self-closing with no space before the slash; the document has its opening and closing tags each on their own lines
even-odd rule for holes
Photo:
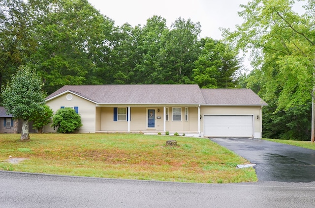
<svg viewBox="0 0 315 208">
<path fill-rule="evenodd" d="M 203 132 L 204 115 L 253 115 L 254 133 L 262 132 L 261 106 L 201 106 L 200 114 L 202 115 L 201 132 Z"/>
</svg>

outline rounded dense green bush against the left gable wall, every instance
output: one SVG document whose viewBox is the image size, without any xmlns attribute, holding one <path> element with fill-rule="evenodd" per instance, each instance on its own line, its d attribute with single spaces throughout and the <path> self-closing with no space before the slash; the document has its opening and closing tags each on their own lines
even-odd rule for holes
<svg viewBox="0 0 315 208">
<path fill-rule="evenodd" d="M 75 133 L 82 127 L 81 117 L 73 108 L 60 108 L 53 116 L 51 127 L 57 128 L 58 133 Z"/>
</svg>

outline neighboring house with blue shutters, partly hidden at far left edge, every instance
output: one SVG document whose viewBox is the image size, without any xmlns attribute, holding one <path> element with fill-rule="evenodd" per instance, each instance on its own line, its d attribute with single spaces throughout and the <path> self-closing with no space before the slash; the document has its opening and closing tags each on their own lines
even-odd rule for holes
<svg viewBox="0 0 315 208">
<path fill-rule="evenodd" d="M 21 133 L 22 120 L 14 120 L 12 114 L 6 114 L 6 109 L 0 106 L 0 133 Z M 35 133 L 33 123 L 29 122 L 30 133 Z"/>
</svg>

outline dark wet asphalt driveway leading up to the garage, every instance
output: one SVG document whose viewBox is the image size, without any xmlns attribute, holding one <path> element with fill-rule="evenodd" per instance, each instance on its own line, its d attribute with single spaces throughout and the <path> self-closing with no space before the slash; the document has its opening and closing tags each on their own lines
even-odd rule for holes
<svg viewBox="0 0 315 208">
<path fill-rule="evenodd" d="M 252 138 L 210 140 L 256 164 L 258 181 L 315 181 L 315 150 Z"/>
</svg>

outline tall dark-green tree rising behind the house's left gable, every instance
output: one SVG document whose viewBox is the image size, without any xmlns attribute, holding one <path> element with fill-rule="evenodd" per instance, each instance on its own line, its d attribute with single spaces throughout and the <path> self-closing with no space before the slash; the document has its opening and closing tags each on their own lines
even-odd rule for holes
<svg viewBox="0 0 315 208">
<path fill-rule="evenodd" d="M 66 84 L 102 84 L 114 22 L 87 0 L 54 0 L 38 16 L 32 64 L 52 93 Z"/>
</svg>

